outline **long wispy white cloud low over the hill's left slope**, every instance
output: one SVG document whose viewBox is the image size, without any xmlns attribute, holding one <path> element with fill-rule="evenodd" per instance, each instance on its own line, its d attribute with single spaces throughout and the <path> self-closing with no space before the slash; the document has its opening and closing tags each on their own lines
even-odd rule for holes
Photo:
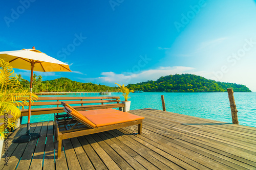
<svg viewBox="0 0 256 170">
<path fill-rule="evenodd" d="M 174 74 L 183 74 L 185 72 L 189 72 L 194 70 L 192 67 L 183 67 L 183 66 L 175 66 L 175 67 L 159 67 L 156 69 L 144 70 L 135 74 L 133 72 L 125 72 L 122 74 L 116 74 L 115 72 L 102 72 L 102 77 L 98 78 L 79 78 L 80 80 L 84 80 L 87 82 L 94 82 L 105 84 L 109 86 L 114 86 L 114 83 L 119 84 L 129 84 L 129 83 L 140 83 L 147 80 L 157 80 L 161 76 L 174 75 Z"/>
</svg>

